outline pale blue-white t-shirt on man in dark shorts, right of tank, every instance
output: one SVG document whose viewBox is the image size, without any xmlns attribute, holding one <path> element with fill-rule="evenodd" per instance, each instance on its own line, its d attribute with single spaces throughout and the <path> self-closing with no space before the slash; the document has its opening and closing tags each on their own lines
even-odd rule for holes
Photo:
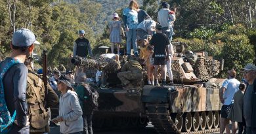
<svg viewBox="0 0 256 134">
<path fill-rule="evenodd" d="M 238 88 L 239 84 L 240 82 L 236 80 L 236 78 L 230 78 L 223 82 L 223 87 L 226 88 L 223 94 L 223 99 L 224 99 L 223 105 L 230 105 L 232 103 L 234 93 L 236 93 L 239 90 Z"/>
</svg>

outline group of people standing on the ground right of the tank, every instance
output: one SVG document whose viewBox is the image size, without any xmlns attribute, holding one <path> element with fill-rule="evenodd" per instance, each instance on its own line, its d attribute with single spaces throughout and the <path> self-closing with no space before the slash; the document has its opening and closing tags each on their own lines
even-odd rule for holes
<svg viewBox="0 0 256 134">
<path fill-rule="evenodd" d="M 256 90 L 256 66 L 248 63 L 242 73 L 244 81 L 236 79 L 236 71 L 227 71 L 228 78 L 223 82 L 220 92 L 221 124 L 220 131 L 230 133 L 230 120 L 232 133 L 256 133 L 255 124 L 255 90 Z"/>
</svg>

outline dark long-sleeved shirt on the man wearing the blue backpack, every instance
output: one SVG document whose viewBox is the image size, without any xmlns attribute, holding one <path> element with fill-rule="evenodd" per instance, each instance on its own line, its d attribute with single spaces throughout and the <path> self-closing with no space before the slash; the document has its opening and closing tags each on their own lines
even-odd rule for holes
<svg viewBox="0 0 256 134">
<path fill-rule="evenodd" d="M 6 58 L 0 63 L 0 71 L 11 61 L 12 58 Z M 7 108 L 12 114 L 16 110 L 16 120 L 20 127 L 26 126 L 28 105 L 26 100 L 28 68 L 24 63 L 13 65 L 3 76 L 3 86 L 5 89 L 5 101 Z"/>
</svg>

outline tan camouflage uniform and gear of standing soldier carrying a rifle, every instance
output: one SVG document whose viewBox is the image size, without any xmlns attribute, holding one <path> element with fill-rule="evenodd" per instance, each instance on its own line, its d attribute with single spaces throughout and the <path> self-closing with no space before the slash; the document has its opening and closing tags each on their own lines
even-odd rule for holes
<svg viewBox="0 0 256 134">
<path fill-rule="evenodd" d="M 49 118 L 51 117 L 49 117 L 49 112 L 45 109 L 58 103 L 58 95 L 56 95 L 49 84 L 47 84 L 47 88 L 47 105 L 45 105 L 45 88 L 43 80 L 41 76 L 33 73 L 31 69 L 29 69 L 26 97 L 30 118 L 30 133 L 43 134 L 50 131 Z M 36 93 L 36 91 L 38 92 Z"/>
</svg>

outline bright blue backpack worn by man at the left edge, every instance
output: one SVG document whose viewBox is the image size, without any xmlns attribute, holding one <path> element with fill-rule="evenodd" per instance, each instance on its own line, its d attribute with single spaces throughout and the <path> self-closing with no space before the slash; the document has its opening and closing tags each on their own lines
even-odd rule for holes
<svg viewBox="0 0 256 134">
<path fill-rule="evenodd" d="M 5 73 L 15 64 L 20 63 L 18 60 L 12 59 L 3 67 L 3 71 L 0 73 L 0 133 L 8 133 L 16 117 L 16 110 L 13 115 L 9 112 L 7 104 L 5 102 L 5 90 L 3 89 L 3 76 Z"/>
</svg>

